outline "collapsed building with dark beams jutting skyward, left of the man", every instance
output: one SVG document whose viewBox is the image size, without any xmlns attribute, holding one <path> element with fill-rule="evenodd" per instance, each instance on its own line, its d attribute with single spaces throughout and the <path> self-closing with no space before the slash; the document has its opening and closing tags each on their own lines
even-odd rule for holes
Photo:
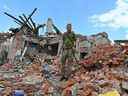
<svg viewBox="0 0 128 96">
<path fill-rule="evenodd" d="M 60 37 L 58 35 L 59 33 L 53 31 L 56 26 L 53 25 L 51 19 L 48 19 L 47 24 L 40 24 L 37 26 L 31 18 L 33 13 L 30 14 L 28 18 L 25 15 L 23 15 L 24 18 L 19 16 L 21 21 L 10 14 L 5 13 L 21 26 L 20 28 L 11 28 L 11 33 L 1 33 L 1 47 L 8 47 L 7 57 L 10 63 L 13 63 L 15 57 L 18 57 L 19 55 L 21 56 L 19 59 L 22 60 L 24 55 L 32 56 L 43 53 L 42 55 L 44 56 L 56 56 L 58 53 Z M 39 36 L 39 29 L 44 29 L 44 27 L 46 27 L 44 36 Z M 57 31 L 57 28 L 55 31 Z M 9 45 L 4 44 L 3 42 L 6 42 Z M 1 50 L 1 52 L 3 52 L 4 48 L 1 48 Z"/>
</svg>

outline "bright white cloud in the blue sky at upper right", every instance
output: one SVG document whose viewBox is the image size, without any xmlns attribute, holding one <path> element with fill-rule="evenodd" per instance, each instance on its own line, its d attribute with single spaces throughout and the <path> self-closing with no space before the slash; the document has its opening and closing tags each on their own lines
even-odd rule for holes
<svg viewBox="0 0 128 96">
<path fill-rule="evenodd" d="M 128 0 L 117 0 L 115 8 L 93 15 L 90 20 L 95 27 L 128 28 Z"/>
</svg>

